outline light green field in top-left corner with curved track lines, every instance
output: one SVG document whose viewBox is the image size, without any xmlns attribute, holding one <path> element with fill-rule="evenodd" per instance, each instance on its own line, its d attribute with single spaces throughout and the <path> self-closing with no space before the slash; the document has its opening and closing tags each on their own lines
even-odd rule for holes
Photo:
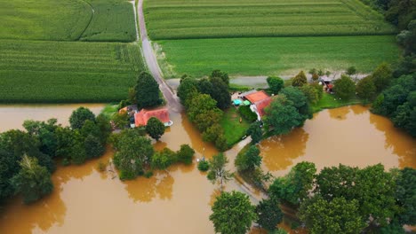
<svg viewBox="0 0 416 234">
<path fill-rule="evenodd" d="M 0 0 L 0 38 L 132 42 L 132 4 L 124 0 Z"/>
</svg>

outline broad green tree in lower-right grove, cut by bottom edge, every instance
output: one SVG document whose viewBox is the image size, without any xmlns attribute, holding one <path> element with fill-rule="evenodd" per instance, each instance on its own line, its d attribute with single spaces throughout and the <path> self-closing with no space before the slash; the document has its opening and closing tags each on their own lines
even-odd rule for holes
<svg viewBox="0 0 416 234">
<path fill-rule="evenodd" d="M 318 195 L 300 205 L 300 220 L 306 222 L 310 233 L 360 233 L 365 222 L 357 214 L 358 202 L 344 198 L 331 201 Z"/>
</svg>

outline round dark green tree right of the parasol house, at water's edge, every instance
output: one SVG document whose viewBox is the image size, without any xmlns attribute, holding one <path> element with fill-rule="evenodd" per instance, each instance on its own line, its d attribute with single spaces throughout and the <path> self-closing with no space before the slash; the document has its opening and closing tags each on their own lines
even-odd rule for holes
<svg viewBox="0 0 416 234">
<path fill-rule="evenodd" d="M 285 95 L 273 99 L 265 109 L 266 116 L 263 121 L 268 129 L 276 135 L 289 133 L 294 127 L 302 124 L 303 118 Z"/>
</svg>

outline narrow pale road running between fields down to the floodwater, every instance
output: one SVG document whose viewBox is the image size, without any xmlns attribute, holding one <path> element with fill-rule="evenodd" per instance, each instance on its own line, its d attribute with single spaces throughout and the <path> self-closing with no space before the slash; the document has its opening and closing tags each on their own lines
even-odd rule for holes
<svg viewBox="0 0 416 234">
<path fill-rule="evenodd" d="M 172 92 L 166 82 L 164 82 L 164 76 L 159 65 L 157 64 L 155 51 L 153 51 L 152 43 L 148 39 L 148 30 L 146 29 L 146 22 L 143 14 L 143 0 L 139 0 L 137 12 L 139 15 L 141 49 L 145 62 L 148 65 L 148 71 L 153 75 L 156 82 L 159 84 L 159 89 L 162 91 L 164 99 L 166 99 L 168 108 L 172 112 L 180 113 L 183 110 L 183 106 L 180 104 L 179 98 Z"/>
</svg>

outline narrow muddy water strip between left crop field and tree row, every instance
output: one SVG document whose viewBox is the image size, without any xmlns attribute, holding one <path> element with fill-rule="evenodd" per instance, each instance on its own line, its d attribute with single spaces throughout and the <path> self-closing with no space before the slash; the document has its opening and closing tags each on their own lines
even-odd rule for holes
<svg viewBox="0 0 416 234">
<path fill-rule="evenodd" d="M 56 118 L 60 124 L 67 126 L 69 116 L 80 106 L 89 108 L 95 114 L 104 107 L 103 104 L 0 105 L 0 132 L 23 129 L 21 124 L 26 120 L 47 121 Z"/>
</svg>

